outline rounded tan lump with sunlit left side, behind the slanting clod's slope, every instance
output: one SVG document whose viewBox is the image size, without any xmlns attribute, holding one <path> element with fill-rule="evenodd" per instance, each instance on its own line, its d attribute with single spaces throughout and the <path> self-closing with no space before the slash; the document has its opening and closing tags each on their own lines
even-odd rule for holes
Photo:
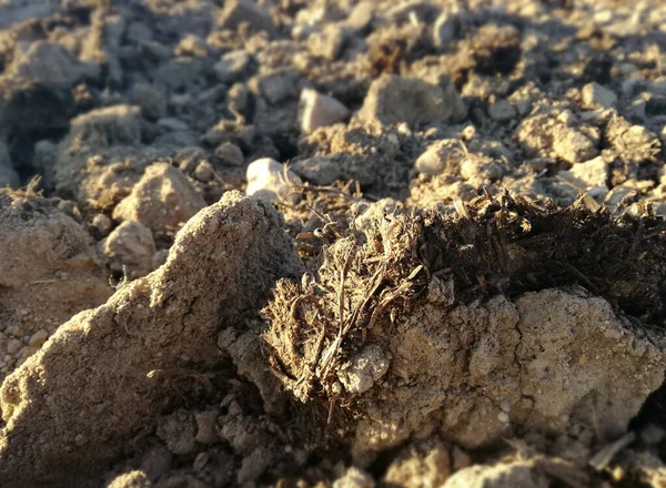
<svg viewBox="0 0 666 488">
<path fill-rule="evenodd" d="M 153 232 L 173 232 L 205 206 L 185 175 L 168 163 L 150 165 L 113 218 L 141 222 Z"/>
</svg>

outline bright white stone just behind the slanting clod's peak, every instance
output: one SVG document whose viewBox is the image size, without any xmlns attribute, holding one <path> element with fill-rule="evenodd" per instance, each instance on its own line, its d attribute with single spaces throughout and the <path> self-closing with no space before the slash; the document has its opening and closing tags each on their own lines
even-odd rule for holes
<svg viewBox="0 0 666 488">
<path fill-rule="evenodd" d="M 293 186 L 302 182 L 292 171 L 284 173 L 284 166 L 275 160 L 262 157 L 254 161 L 248 166 L 245 193 L 273 203 L 286 200 L 295 204 L 300 194 Z"/>
</svg>

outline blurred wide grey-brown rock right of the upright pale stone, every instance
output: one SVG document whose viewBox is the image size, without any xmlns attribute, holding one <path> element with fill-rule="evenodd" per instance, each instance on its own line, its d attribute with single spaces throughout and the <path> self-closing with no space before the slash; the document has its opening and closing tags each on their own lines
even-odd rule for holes
<svg viewBox="0 0 666 488">
<path fill-rule="evenodd" d="M 440 87 L 418 78 L 384 74 L 370 85 L 359 118 L 366 122 L 410 126 L 460 120 L 466 108 L 452 84 Z"/>
</svg>

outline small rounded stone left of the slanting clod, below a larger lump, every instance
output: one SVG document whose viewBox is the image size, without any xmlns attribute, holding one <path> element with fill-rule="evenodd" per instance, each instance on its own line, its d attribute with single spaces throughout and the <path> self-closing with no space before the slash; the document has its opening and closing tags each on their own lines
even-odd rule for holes
<svg viewBox="0 0 666 488">
<path fill-rule="evenodd" d="M 140 222 L 121 223 L 102 241 L 101 247 L 109 257 L 111 271 L 127 273 L 130 279 L 145 276 L 152 271 L 155 242 L 150 228 Z"/>
</svg>

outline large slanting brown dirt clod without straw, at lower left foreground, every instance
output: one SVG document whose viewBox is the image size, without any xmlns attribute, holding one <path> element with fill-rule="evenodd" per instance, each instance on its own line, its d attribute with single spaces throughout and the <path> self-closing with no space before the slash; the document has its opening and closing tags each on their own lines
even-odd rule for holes
<svg viewBox="0 0 666 488">
<path fill-rule="evenodd" d="M 218 332 L 242 329 L 274 281 L 300 272 L 282 225 L 262 201 L 226 193 L 181 230 L 163 266 L 62 325 L 0 390 L 0 484 L 85 476 L 154 429 L 174 389 L 219 370 Z M 183 369 L 190 379 L 170 388 Z"/>
</svg>

